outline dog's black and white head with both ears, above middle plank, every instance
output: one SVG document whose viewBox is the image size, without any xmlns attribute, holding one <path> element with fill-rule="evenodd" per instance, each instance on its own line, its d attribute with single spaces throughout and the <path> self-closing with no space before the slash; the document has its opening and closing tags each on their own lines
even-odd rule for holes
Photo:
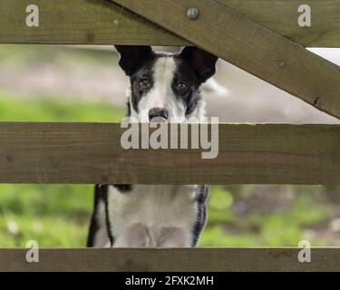
<svg viewBox="0 0 340 290">
<path fill-rule="evenodd" d="M 140 121 L 184 120 L 197 110 L 199 86 L 215 73 L 218 58 L 196 47 L 179 54 L 150 46 L 121 46 L 121 69 L 130 77 L 131 116 Z"/>
</svg>

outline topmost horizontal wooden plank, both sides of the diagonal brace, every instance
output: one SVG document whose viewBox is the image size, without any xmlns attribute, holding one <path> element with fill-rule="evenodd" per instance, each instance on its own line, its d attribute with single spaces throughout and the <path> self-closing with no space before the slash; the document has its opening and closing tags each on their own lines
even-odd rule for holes
<svg viewBox="0 0 340 290">
<path fill-rule="evenodd" d="M 183 1 L 181 1 L 183 3 Z M 297 25 L 301 1 L 219 0 L 239 14 L 305 46 L 340 46 L 340 5 L 337 0 L 306 0 L 312 8 L 312 26 Z M 107 0 L 34 0 L 40 8 L 40 26 L 25 25 L 30 0 L 0 2 L 0 43 L 152 44 L 186 45 L 141 17 Z"/>
</svg>

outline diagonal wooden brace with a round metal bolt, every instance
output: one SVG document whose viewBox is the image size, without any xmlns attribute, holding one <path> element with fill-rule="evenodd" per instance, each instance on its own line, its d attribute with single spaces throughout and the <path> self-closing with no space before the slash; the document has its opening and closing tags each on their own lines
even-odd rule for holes
<svg viewBox="0 0 340 290">
<path fill-rule="evenodd" d="M 340 68 L 215 0 L 111 0 L 340 118 Z M 286 2 L 285 2 L 286 3 Z M 188 7 L 199 8 L 190 21 Z M 167 13 L 165 14 L 164 11 Z M 204 29 L 202 29 L 204 27 Z"/>
</svg>

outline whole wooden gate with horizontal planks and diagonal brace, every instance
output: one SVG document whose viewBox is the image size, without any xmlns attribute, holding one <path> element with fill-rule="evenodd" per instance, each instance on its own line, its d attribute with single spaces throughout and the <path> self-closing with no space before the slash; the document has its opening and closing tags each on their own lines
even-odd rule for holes
<svg viewBox="0 0 340 290">
<path fill-rule="evenodd" d="M 32 4 L 38 27 L 25 24 Z M 310 27 L 297 24 L 302 4 L 311 7 Z M 197 20 L 189 7 L 199 9 Z M 337 0 L 1 0 L 0 43 L 194 44 L 340 118 L 339 67 L 305 49 L 340 47 L 339 15 Z M 0 182 L 340 184 L 339 125 L 220 124 L 215 160 L 198 150 L 122 150 L 120 136 L 118 124 L 0 123 Z M 24 253 L 0 250 L 0 270 L 307 271 L 340 263 L 337 248 L 314 248 L 312 263 L 299 263 L 296 248 L 44 249 L 32 264 Z"/>
</svg>

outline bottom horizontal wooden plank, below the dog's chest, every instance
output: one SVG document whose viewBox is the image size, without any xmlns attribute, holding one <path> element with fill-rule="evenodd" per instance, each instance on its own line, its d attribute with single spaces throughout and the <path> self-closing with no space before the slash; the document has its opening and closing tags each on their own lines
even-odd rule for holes
<svg viewBox="0 0 340 290">
<path fill-rule="evenodd" d="M 340 248 L 101 248 L 40 249 L 39 263 L 27 263 L 27 249 L 0 249 L 0 271 L 338 271 Z"/>
</svg>

